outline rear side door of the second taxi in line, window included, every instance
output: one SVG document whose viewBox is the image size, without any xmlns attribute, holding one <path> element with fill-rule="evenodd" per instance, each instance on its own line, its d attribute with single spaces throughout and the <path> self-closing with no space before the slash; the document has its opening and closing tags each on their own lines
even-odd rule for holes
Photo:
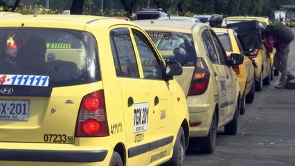
<svg viewBox="0 0 295 166">
<path fill-rule="evenodd" d="M 218 59 L 217 50 L 214 46 L 213 39 L 211 37 L 211 32 L 206 29 L 202 33 L 202 39 L 204 42 L 206 55 L 211 60 L 211 64 L 213 66 L 213 71 L 211 75 L 215 76 L 215 82 L 218 89 L 218 99 L 220 105 L 220 112 L 218 113 L 218 123 L 220 125 L 224 124 L 225 118 L 225 106 L 226 106 L 226 73 L 224 72 L 223 66 L 220 64 L 220 60 Z"/>
</svg>

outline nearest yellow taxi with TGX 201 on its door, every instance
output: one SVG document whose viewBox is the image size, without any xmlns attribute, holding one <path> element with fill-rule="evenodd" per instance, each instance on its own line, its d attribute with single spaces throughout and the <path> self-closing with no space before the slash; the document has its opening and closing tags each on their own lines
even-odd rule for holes
<svg viewBox="0 0 295 166">
<path fill-rule="evenodd" d="M 143 29 L 84 15 L 0 22 L 0 165 L 183 165 L 182 67 Z"/>
</svg>

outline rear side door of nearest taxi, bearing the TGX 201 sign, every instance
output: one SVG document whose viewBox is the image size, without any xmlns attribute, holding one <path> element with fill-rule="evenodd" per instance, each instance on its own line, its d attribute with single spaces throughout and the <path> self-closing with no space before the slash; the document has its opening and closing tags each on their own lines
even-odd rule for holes
<svg viewBox="0 0 295 166">
<path fill-rule="evenodd" d="M 110 33 L 110 40 L 116 75 L 122 91 L 127 158 L 130 163 L 141 160 L 143 165 L 147 165 L 147 156 L 150 156 L 148 143 L 152 139 L 148 123 L 151 120 L 153 103 L 140 78 L 129 29 L 114 28 Z"/>
</svg>

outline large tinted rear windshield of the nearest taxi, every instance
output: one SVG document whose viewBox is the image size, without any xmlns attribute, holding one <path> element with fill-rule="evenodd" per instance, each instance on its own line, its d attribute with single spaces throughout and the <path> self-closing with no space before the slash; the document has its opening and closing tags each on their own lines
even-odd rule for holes
<svg viewBox="0 0 295 166">
<path fill-rule="evenodd" d="M 0 28 L 0 75 L 11 78 L 1 84 L 30 85 L 39 76 L 53 87 L 96 82 L 97 53 L 96 39 L 84 31 Z"/>
</svg>

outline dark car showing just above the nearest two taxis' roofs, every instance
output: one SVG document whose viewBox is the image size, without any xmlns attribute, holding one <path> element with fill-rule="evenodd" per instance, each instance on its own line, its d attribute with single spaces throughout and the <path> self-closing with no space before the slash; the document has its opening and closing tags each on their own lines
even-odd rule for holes
<svg viewBox="0 0 295 166">
<path fill-rule="evenodd" d="M 146 9 L 143 8 L 136 12 L 135 19 L 159 19 L 159 18 L 168 18 L 168 13 L 165 12 L 162 8 L 156 9 Z"/>
</svg>

